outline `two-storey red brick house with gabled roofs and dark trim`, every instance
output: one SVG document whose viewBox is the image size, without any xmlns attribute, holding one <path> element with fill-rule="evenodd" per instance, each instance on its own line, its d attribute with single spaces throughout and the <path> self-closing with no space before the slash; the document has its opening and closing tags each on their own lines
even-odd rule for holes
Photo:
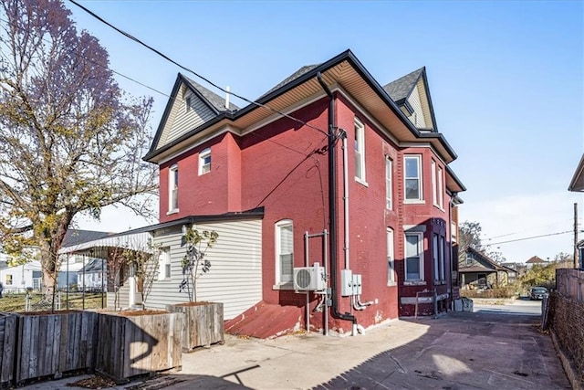
<svg viewBox="0 0 584 390">
<path fill-rule="evenodd" d="M 219 242 L 253 251 L 255 271 L 225 255 L 234 268 L 208 282 L 206 299 L 230 301 L 256 283 L 255 301 L 225 315 L 228 332 L 355 332 L 416 302 L 434 314 L 457 293 L 455 158 L 424 68 L 381 86 L 348 50 L 241 109 L 179 74 L 144 157 L 160 166 L 150 230 L 162 242 L 183 226 L 254 221 L 254 239 L 228 227 Z M 180 262 L 183 247 L 168 251 Z"/>
</svg>

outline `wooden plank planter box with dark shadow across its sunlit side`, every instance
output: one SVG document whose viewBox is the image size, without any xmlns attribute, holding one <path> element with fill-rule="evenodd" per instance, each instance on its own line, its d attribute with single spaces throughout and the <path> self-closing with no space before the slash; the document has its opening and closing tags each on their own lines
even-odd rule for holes
<svg viewBox="0 0 584 390">
<path fill-rule="evenodd" d="M 180 370 L 182 332 L 181 313 L 100 313 L 96 370 L 118 382 Z"/>
</svg>

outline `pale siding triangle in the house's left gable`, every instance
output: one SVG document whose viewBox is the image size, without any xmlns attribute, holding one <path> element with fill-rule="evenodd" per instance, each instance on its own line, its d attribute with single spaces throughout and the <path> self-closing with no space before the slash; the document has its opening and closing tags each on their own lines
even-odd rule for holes
<svg viewBox="0 0 584 390">
<path fill-rule="evenodd" d="M 206 121 L 214 118 L 215 114 L 203 100 L 199 99 L 192 91 L 186 90 L 183 86 L 181 92 L 177 94 L 177 99 L 172 103 L 172 109 L 162 130 L 161 139 L 156 145 L 161 148 L 186 132 L 202 125 Z M 182 99 L 179 97 L 183 96 Z M 186 111 L 186 100 L 191 98 L 191 110 Z"/>
</svg>

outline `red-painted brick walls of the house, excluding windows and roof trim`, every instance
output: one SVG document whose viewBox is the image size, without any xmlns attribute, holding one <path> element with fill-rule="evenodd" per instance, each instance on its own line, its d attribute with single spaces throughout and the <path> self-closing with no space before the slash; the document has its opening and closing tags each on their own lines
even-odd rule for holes
<svg viewBox="0 0 584 390">
<path fill-rule="evenodd" d="M 361 301 L 377 300 L 365 311 L 355 311 L 349 298 L 341 298 L 339 311 L 352 312 L 363 326 L 398 316 L 398 295 L 415 296 L 415 291 L 433 289 L 433 257 L 431 234 L 440 232 L 449 248 L 448 198 L 444 192 L 444 210 L 432 205 L 429 148 L 400 149 L 364 115 L 357 113 L 365 126 L 367 185 L 355 181 L 354 117 L 358 112 L 342 96 L 336 100 L 336 123 L 348 133 L 349 162 L 349 269 L 362 275 Z M 323 131 L 328 128 L 328 99 L 318 100 L 292 113 Z M 390 129 L 391 130 L 391 129 Z M 305 232 L 315 234 L 328 226 L 328 155 L 327 137 L 317 130 L 283 118 L 267 124 L 242 138 L 224 134 L 161 166 L 161 222 L 189 215 L 222 214 L 243 211 L 257 206 L 265 207 L 263 219 L 263 291 L 267 303 L 302 307 L 306 296 L 289 290 L 274 290 L 276 279 L 275 224 L 282 219 L 294 221 L 295 267 L 305 265 Z M 198 175 L 198 153 L 211 147 L 212 172 Z M 343 255 L 343 199 L 342 150 L 336 149 L 338 172 L 337 207 L 339 210 L 338 264 L 344 269 Z M 403 155 L 422 154 L 423 205 L 403 204 Z M 392 159 L 393 208 L 385 206 L 385 156 Z M 167 216 L 168 167 L 179 163 L 180 213 Z M 445 186 L 445 181 L 444 181 Z M 445 221 L 444 225 L 437 218 Z M 403 225 L 426 225 L 424 234 L 424 274 L 427 285 L 403 286 Z M 386 229 L 394 231 L 394 256 L 398 283 L 388 286 Z M 323 263 L 321 245 L 311 240 L 309 264 Z M 450 269 L 446 261 L 446 269 Z M 447 279 L 450 275 L 447 274 Z M 339 272 L 340 279 L 340 272 Z M 437 286 L 438 293 L 446 292 L 447 285 Z M 311 296 L 310 308 L 317 305 Z M 401 307 L 400 314 L 408 313 Z M 315 325 L 321 316 L 314 315 Z M 349 321 L 330 320 L 331 329 L 349 330 Z"/>
</svg>

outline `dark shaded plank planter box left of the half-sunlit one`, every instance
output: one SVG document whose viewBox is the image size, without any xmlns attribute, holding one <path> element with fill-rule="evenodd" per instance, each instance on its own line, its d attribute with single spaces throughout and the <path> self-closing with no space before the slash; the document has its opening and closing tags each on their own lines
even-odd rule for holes
<svg viewBox="0 0 584 390">
<path fill-rule="evenodd" d="M 85 325 L 84 325 L 85 324 Z M 93 367 L 98 313 L 56 311 L 17 316 L 16 383 Z"/>
</svg>

